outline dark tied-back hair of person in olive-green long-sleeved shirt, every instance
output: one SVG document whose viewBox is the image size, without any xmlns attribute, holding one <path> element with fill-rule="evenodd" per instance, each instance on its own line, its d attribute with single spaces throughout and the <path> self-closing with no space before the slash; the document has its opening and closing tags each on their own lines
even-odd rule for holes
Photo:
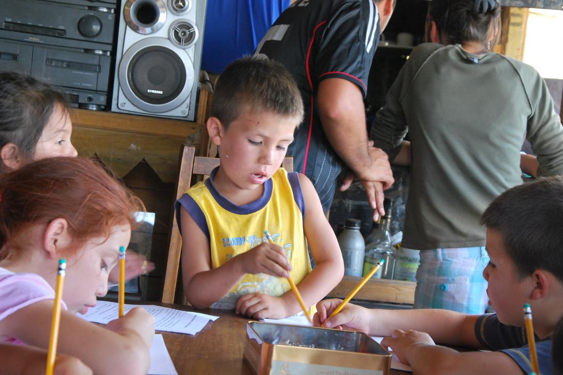
<svg viewBox="0 0 563 375">
<path fill-rule="evenodd" d="M 492 50 L 501 38 L 501 3 L 490 0 L 489 6 L 476 6 L 486 0 L 432 0 L 428 4 L 427 39 L 430 23 L 434 21 L 440 35 L 449 44 L 481 42 L 485 50 Z M 490 35 L 495 38 L 487 46 Z M 489 48 L 486 48 L 489 47 Z"/>
</svg>

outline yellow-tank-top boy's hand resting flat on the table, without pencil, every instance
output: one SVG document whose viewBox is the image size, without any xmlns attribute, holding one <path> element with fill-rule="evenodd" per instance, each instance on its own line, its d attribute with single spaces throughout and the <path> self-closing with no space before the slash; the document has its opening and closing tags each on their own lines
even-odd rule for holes
<svg viewBox="0 0 563 375">
<path fill-rule="evenodd" d="M 235 312 L 254 319 L 283 319 L 288 316 L 286 307 L 283 298 L 264 293 L 252 293 L 239 298 Z"/>
</svg>

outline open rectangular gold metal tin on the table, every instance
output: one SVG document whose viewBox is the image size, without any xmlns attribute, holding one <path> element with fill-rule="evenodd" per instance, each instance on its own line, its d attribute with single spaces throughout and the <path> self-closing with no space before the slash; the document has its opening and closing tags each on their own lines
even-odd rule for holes
<svg viewBox="0 0 563 375">
<path fill-rule="evenodd" d="M 257 375 L 387 375 L 391 354 L 365 333 L 248 322 L 243 360 Z"/>
</svg>

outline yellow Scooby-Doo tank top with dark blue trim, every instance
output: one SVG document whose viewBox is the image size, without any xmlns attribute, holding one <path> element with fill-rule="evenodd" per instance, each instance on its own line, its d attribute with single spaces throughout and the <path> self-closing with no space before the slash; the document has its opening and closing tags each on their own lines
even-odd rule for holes
<svg viewBox="0 0 563 375">
<path fill-rule="evenodd" d="M 303 233 L 305 203 L 297 173 L 278 169 L 264 183 L 262 197 L 244 206 L 236 206 L 218 193 L 213 186 L 215 173 L 216 170 L 207 180 L 190 187 L 176 203 L 177 217 L 181 204 L 208 236 L 212 267 L 217 268 L 267 241 L 267 230 L 274 243 L 285 249 L 292 266 L 291 276 L 299 284 L 310 273 L 311 262 Z M 278 297 L 290 289 L 285 278 L 246 274 L 212 307 L 234 309 L 244 294 L 260 292 Z"/>
</svg>

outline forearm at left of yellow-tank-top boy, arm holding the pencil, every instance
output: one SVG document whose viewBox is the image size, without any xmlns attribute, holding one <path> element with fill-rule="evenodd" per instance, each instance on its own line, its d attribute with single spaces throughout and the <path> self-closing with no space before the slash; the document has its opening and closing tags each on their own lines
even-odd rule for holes
<svg viewBox="0 0 563 375">
<path fill-rule="evenodd" d="M 187 300 L 198 309 L 205 309 L 217 302 L 245 275 L 237 257 L 222 266 L 197 273 L 184 283 Z"/>
</svg>

